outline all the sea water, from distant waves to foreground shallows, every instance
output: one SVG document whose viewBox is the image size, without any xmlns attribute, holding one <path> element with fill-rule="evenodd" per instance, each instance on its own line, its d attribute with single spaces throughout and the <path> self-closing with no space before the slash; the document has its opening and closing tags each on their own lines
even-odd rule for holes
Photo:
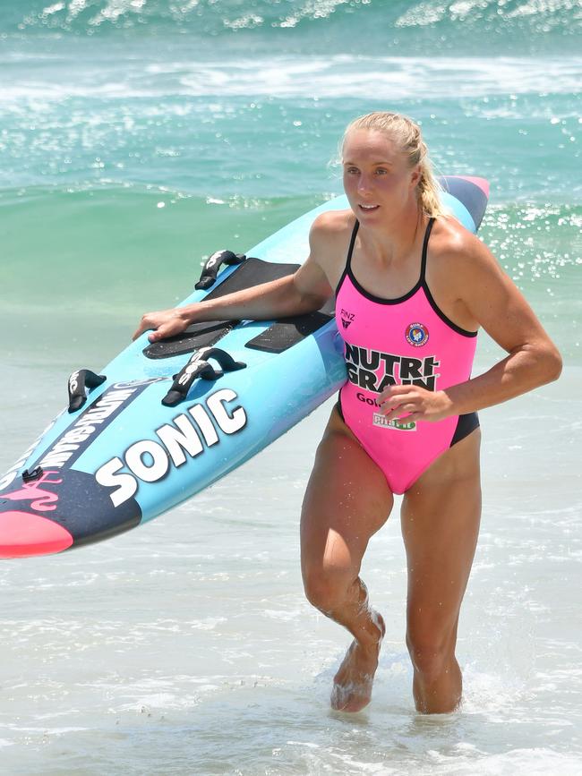
<svg viewBox="0 0 582 776">
<path fill-rule="evenodd" d="M 0 470 L 203 257 L 340 192 L 338 138 L 376 108 L 421 122 L 442 173 L 491 181 L 481 235 L 565 362 L 481 414 L 460 712 L 415 713 L 398 510 L 364 561 L 388 623 L 372 704 L 330 712 L 350 639 L 304 601 L 298 546 L 328 403 L 137 531 L 3 561 L 3 773 L 582 772 L 581 19 L 574 0 L 0 4 Z M 500 355 L 483 335 L 475 371 Z"/>
</svg>

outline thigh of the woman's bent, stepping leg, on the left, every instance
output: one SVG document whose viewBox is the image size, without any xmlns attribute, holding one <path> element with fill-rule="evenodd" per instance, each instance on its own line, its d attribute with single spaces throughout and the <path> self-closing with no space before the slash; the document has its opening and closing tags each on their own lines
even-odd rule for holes
<svg viewBox="0 0 582 776">
<path fill-rule="evenodd" d="M 305 492 L 304 577 L 324 573 L 355 578 L 368 541 L 388 519 L 392 504 L 381 469 L 334 408 Z"/>
</svg>

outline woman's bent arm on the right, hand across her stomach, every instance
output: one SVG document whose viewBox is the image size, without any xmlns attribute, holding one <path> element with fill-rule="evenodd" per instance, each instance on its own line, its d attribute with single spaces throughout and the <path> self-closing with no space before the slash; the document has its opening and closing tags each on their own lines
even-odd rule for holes
<svg viewBox="0 0 582 776">
<path fill-rule="evenodd" d="M 560 377 L 557 347 L 489 249 L 464 235 L 447 263 L 459 302 L 508 355 L 484 374 L 441 391 L 389 388 L 381 396 L 389 419 L 409 414 L 411 420 L 439 421 L 501 404 Z"/>
</svg>

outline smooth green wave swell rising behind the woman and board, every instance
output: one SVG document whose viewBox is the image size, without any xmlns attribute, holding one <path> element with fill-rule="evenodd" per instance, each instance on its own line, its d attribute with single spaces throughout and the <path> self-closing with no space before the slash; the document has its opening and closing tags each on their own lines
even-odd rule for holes
<svg viewBox="0 0 582 776">
<path fill-rule="evenodd" d="M 71 354 L 71 336 L 78 357 L 85 341 L 88 352 L 97 347 L 109 360 L 141 312 L 175 305 L 189 293 L 211 252 L 247 250 L 320 201 L 316 195 L 202 200 L 152 188 L 0 195 L 0 323 L 13 332 L 8 353 L 22 357 L 23 348 L 38 347 L 50 330 L 48 360 Z M 578 366 L 581 224 L 582 209 L 574 203 L 525 201 L 492 204 L 481 229 L 567 364 Z M 107 348 L 106 332 L 114 332 Z"/>
</svg>

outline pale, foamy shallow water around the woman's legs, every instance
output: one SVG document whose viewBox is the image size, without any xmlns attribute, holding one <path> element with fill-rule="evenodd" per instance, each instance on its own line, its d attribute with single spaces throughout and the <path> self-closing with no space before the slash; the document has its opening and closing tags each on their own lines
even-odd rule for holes
<svg viewBox="0 0 582 776">
<path fill-rule="evenodd" d="M 565 385 L 579 378 L 567 373 Z M 372 704 L 354 717 L 329 710 L 349 639 L 304 601 L 297 536 L 305 450 L 325 406 L 139 531 L 4 562 L 9 772 L 579 772 L 580 499 L 568 433 L 556 432 L 563 390 L 535 392 L 536 427 L 523 422 L 526 399 L 482 417 L 486 495 L 458 644 L 461 712 L 414 710 L 398 513 L 363 570 L 388 624 Z M 539 488 L 549 435 L 563 451 L 552 492 Z"/>
</svg>

